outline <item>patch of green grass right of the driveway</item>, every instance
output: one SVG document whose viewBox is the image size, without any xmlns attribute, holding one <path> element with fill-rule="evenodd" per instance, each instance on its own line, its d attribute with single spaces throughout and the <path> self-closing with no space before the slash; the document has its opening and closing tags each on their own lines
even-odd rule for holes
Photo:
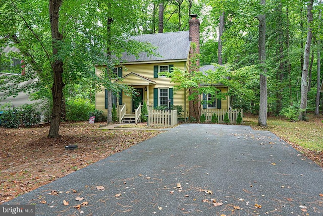
<svg viewBox="0 0 323 216">
<path fill-rule="evenodd" d="M 255 130 L 268 130 L 285 141 L 300 145 L 314 151 L 323 151 L 323 116 L 308 115 L 307 122 L 290 122 L 287 119 L 268 117 L 267 127 L 257 126 L 258 117 L 243 118 L 244 125 L 250 125 Z"/>
</svg>

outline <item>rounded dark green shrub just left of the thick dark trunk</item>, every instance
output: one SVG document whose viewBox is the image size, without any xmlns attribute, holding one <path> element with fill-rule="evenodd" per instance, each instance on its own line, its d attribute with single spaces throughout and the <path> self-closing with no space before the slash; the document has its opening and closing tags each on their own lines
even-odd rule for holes
<svg viewBox="0 0 323 216">
<path fill-rule="evenodd" d="M 25 104 L 21 108 L 21 121 L 25 127 L 36 125 L 40 122 L 41 113 L 34 104 Z"/>
</svg>

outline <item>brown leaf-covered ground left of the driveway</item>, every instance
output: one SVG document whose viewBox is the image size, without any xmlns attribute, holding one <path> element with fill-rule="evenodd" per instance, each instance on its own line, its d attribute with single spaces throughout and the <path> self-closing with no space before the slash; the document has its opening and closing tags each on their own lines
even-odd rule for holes
<svg viewBox="0 0 323 216">
<path fill-rule="evenodd" d="M 61 123 L 57 139 L 47 138 L 48 124 L 0 127 L 0 204 L 160 133 L 98 130 L 102 124 Z M 78 147 L 66 149 L 70 144 Z"/>
</svg>

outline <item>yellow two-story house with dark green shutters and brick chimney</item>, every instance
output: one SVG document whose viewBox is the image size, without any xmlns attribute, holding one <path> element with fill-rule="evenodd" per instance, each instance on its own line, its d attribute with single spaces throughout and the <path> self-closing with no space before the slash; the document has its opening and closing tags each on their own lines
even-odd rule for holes
<svg viewBox="0 0 323 216">
<path fill-rule="evenodd" d="M 116 66 L 114 73 L 117 77 L 114 82 L 120 82 L 134 87 L 139 93 L 138 96 L 127 96 L 124 93 L 113 96 L 113 102 L 125 107 L 125 117 L 135 114 L 139 102 L 146 102 L 152 107 L 179 105 L 183 108 L 182 117 L 192 116 L 192 104 L 188 100 L 188 90 L 179 90 L 176 93 L 173 88 L 176 83 L 172 83 L 170 78 L 160 76 L 158 73 L 172 71 L 173 67 L 180 70 L 190 68 L 190 53 L 192 53 L 192 42 L 196 44 L 194 51 L 199 53 L 199 20 L 196 15 L 191 15 L 189 21 L 189 31 L 168 32 L 157 34 L 146 34 L 133 37 L 141 42 L 151 43 L 156 47 L 155 56 L 147 56 L 141 53 L 139 58 L 124 53 L 122 63 Z M 208 70 L 209 66 L 202 66 L 200 70 Z M 103 73 L 102 67 L 97 66 L 95 73 L 97 76 Z M 222 92 L 227 92 L 226 86 L 219 86 Z M 210 97 L 208 98 L 210 99 Z M 201 105 L 201 104 L 199 104 Z M 96 93 L 95 107 L 104 113 L 107 111 L 107 91 L 103 87 Z M 215 103 L 208 103 L 205 109 L 228 110 L 229 98 Z"/>
</svg>

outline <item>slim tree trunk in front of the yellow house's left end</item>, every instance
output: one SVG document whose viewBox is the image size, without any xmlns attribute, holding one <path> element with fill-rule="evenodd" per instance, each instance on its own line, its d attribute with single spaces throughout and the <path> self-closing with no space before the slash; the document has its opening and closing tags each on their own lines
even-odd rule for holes
<svg viewBox="0 0 323 216">
<path fill-rule="evenodd" d="M 106 72 L 107 72 L 107 78 L 111 82 L 112 77 L 112 66 L 111 66 L 111 24 L 113 22 L 113 19 L 111 17 L 107 18 L 107 25 L 106 25 L 106 55 L 109 59 L 109 62 L 106 64 Z M 112 124 L 112 89 L 107 90 L 107 124 Z"/>
</svg>

